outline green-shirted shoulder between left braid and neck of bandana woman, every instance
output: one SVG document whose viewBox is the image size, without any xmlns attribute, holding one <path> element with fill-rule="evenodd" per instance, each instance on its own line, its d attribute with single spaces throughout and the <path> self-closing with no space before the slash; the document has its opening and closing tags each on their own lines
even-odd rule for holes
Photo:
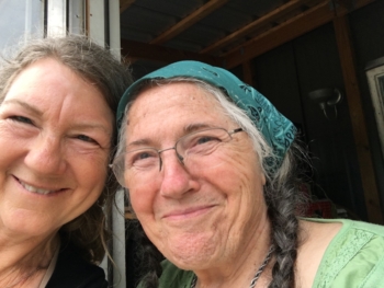
<svg viewBox="0 0 384 288">
<path fill-rule="evenodd" d="M 179 288 L 191 286 L 193 272 L 179 269 L 167 260 L 161 263 L 161 266 L 162 274 L 160 277 L 159 288 Z"/>
</svg>

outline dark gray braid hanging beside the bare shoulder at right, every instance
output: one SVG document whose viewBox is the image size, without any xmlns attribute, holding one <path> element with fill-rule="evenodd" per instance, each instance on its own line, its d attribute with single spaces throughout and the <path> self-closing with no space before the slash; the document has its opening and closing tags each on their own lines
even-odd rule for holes
<svg viewBox="0 0 384 288">
<path fill-rule="evenodd" d="M 271 221 L 271 241 L 274 245 L 275 263 L 272 268 L 272 281 L 269 288 L 292 288 L 295 286 L 295 262 L 298 247 L 300 207 L 305 207 L 305 196 L 297 192 L 298 175 L 304 175 L 304 168 L 293 160 L 295 152 L 303 154 L 294 142 L 290 148 L 284 164 L 284 181 L 276 178 L 267 183 L 264 198 Z M 303 170 L 303 171 L 301 171 Z"/>
</svg>

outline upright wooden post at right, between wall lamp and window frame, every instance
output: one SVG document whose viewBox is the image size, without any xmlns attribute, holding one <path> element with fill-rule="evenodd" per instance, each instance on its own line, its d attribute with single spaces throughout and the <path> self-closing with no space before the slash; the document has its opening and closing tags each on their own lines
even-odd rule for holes
<svg viewBox="0 0 384 288">
<path fill-rule="evenodd" d="M 363 110 L 361 107 L 361 95 L 347 16 L 336 18 L 334 20 L 334 27 L 345 80 L 346 97 L 348 100 L 348 107 L 351 116 L 354 142 L 360 164 L 360 174 L 365 196 L 366 211 L 370 222 L 383 224 L 383 214 L 380 207 L 380 196 L 368 140 L 366 124 Z"/>
</svg>

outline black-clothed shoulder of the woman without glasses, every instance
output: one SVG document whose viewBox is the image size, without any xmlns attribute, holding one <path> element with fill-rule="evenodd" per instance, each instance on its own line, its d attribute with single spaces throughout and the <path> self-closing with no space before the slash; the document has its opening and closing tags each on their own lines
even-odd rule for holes
<svg viewBox="0 0 384 288">
<path fill-rule="evenodd" d="M 55 270 L 46 288 L 106 288 L 104 270 L 80 256 L 79 249 L 66 243 L 60 247 Z"/>
</svg>

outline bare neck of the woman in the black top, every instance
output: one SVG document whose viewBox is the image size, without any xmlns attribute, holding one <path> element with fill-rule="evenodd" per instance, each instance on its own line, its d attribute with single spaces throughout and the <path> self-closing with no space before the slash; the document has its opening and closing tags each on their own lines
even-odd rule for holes
<svg viewBox="0 0 384 288">
<path fill-rule="evenodd" d="M 58 246 L 57 233 L 45 239 L 0 237 L 0 287 L 8 287 L 19 279 L 29 278 L 48 267 Z M 12 287 L 12 286 L 11 286 Z"/>
</svg>

